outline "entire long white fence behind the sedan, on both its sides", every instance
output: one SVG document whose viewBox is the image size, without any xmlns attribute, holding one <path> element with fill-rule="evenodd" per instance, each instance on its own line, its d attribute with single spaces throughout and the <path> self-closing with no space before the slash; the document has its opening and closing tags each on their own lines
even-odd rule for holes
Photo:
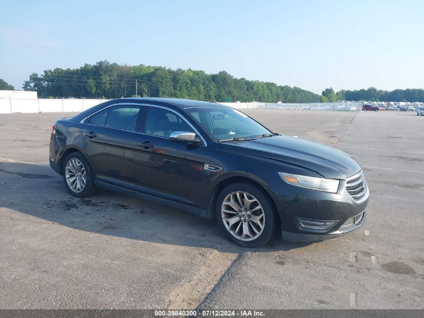
<svg viewBox="0 0 424 318">
<path fill-rule="evenodd" d="M 109 99 L 57 99 L 57 98 L 0 98 L 0 114 L 82 112 Z M 358 111 L 359 102 L 326 103 L 265 103 L 265 102 L 221 102 L 235 109 L 282 109 L 313 111 Z"/>
</svg>

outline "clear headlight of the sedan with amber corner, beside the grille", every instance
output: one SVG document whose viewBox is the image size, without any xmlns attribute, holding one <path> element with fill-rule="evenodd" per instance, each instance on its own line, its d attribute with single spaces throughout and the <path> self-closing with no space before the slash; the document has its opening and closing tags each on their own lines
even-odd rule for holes
<svg viewBox="0 0 424 318">
<path fill-rule="evenodd" d="M 302 188 L 337 193 L 339 180 L 308 177 L 306 175 L 278 172 L 282 180 Z"/>
</svg>

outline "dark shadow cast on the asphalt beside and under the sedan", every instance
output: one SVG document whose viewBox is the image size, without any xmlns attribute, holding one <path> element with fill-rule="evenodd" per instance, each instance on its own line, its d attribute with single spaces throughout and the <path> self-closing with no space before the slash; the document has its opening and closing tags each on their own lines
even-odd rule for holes
<svg viewBox="0 0 424 318">
<path fill-rule="evenodd" d="M 228 253 L 285 251 L 311 244 L 275 238 L 260 248 L 242 248 L 222 235 L 216 221 L 187 211 L 105 190 L 76 198 L 47 165 L 0 162 L 0 187 L 0 207 L 11 213 L 101 235 Z"/>
</svg>

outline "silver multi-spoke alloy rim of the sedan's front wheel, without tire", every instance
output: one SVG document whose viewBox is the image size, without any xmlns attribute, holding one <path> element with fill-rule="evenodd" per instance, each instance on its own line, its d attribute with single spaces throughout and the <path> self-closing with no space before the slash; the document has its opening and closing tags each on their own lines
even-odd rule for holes
<svg viewBox="0 0 424 318">
<path fill-rule="evenodd" d="M 259 201 L 244 191 L 228 194 L 221 206 L 221 217 L 228 232 L 240 241 L 257 239 L 265 227 L 265 214 Z"/>
</svg>

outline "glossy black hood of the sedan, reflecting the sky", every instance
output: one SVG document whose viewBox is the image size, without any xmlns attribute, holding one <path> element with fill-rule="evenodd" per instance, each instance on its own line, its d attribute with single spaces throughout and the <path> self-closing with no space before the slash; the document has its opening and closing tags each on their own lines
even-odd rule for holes
<svg viewBox="0 0 424 318">
<path fill-rule="evenodd" d="M 343 151 L 290 136 L 233 141 L 221 145 L 229 151 L 302 166 L 330 179 L 346 179 L 361 170 L 360 165 Z"/>
</svg>

